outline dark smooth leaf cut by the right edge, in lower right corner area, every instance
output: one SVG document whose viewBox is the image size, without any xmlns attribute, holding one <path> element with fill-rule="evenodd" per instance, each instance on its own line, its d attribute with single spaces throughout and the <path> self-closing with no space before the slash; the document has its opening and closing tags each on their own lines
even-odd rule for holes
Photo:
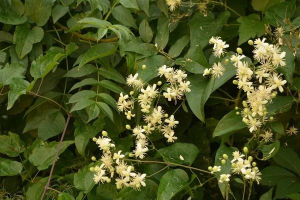
<svg viewBox="0 0 300 200">
<path fill-rule="evenodd" d="M 281 166 L 300 174 L 300 158 L 291 148 L 281 146 L 273 159 Z"/>
</svg>

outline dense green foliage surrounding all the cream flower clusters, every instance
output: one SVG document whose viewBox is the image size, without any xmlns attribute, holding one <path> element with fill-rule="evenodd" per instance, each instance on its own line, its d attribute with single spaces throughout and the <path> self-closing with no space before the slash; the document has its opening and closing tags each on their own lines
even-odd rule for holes
<svg viewBox="0 0 300 200">
<path fill-rule="evenodd" d="M 281 40 L 276 27 L 285 30 Z M 300 128 L 299 27 L 299 0 L 0 0 L 0 199 L 233 199 L 207 167 L 230 173 L 232 152 L 244 146 L 262 172 L 260 184 L 247 186 L 248 199 L 300 199 L 300 138 L 286 132 Z M 220 58 L 212 36 L 229 44 Z M 247 41 L 256 37 L 279 42 L 286 62 L 276 69 L 284 91 L 267 106 L 265 129 L 274 135 L 263 142 L 236 115 L 246 93 L 232 83 L 229 56 L 240 47 L 252 63 Z M 224 74 L 204 77 L 218 61 Z M 125 77 L 165 85 L 157 71 L 164 64 L 190 81 L 177 102 L 154 100 L 179 121 L 177 139 L 149 135 L 152 148 L 132 161 L 147 174 L 141 191 L 118 189 L 113 178 L 95 184 L 90 167 L 100 161 L 91 156 L 101 150 L 92 138 L 105 130 L 129 159 L 134 137 L 126 125 L 142 123 L 140 107 L 128 120 L 116 106 L 132 90 Z M 231 173 L 234 198 L 243 199 L 243 184 Z"/>
</svg>

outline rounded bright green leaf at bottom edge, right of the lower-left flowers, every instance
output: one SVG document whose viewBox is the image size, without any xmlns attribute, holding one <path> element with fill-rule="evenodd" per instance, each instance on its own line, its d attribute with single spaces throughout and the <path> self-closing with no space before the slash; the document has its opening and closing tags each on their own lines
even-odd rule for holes
<svg viewBox="0 0 300 200">
<path fill-rule="evenodd" d="M 188 175 L 182 169 L 166 172 L 160 179 L 157 200 L 170 200 L 188 185 Z"/>
</svg>

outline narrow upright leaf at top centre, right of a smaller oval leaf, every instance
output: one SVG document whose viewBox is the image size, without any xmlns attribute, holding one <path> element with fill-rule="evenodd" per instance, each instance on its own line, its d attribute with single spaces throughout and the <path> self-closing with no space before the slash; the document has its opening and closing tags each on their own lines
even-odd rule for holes
<svg viewBox="0 0 300 200">
<path fill-rule="evenodd" d="M 155 44 L 158 49 L 163 49 L 168 41 L 168 18 L 164 14 L 160 14 L 157 21 L 157 34 L 155 36 Z"/>
</svg>

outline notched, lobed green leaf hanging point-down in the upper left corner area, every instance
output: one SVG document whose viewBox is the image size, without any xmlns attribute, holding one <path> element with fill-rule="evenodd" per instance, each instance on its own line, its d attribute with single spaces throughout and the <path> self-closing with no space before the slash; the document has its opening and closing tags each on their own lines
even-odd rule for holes
<svg viewBox="0 0 300 200">
<path fill-rule="evenodd" d="M 34 26 L 30 30 L 28 23 L 17 25 L 13 34 L 13 43 L 16 44 L 17 56 L 22 59 L 32 49 L 32 44 L 39 42 L 43 38 L 43 29 Z"/>
</svg>

